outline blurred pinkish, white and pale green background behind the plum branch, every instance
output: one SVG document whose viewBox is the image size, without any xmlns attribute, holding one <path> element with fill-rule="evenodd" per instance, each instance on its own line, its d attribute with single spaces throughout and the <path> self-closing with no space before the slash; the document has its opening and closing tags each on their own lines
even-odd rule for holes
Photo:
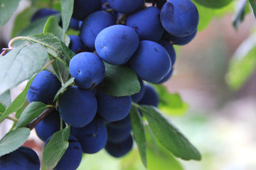
<svg viewBox="0 0 256 170">
<path fill-rule="evenodd" d="M 21 1 L 19 12 L 29 5 Z M 240 44 L 256 26 L 252 11 L 236 30 L 232 25 L 234 6 L 201 13 L 201 20 L 213 12 L 207 28 L 183 47 L 176 47 L 177 60 L 173 77 L 164 84 L 170 93 L 178 93 L 188 103 L 186 113 L 168 114 L 170 120 L 201 152 L 201 162 L 185 162 L 164 154 L 150 153 L 152 169 L 188 170 L 253 170 L 256 169 L 256 72 L 238 90 L 226 83 L 228 65 Z M 11 39 L 12 17 L 0 28 L 0 47 L 7 47 Z M 206 26 L 205 26 L 206 27 Z M 26 82 L 11 91 L 14 99 Z M 0 125 L 0 137 L 10 128 L 9 120 Z M 43 142 L 31 134 L 27 146 L 41 155 Z M 163 156 L 164 155 L 164 156 Z M 161 157 L 161 158 L 159 158 Z M 178 162 L 176 162 L 178 160 Z M 136 147 L 126 157 L 114 159 L 101 151 L 85 155 L 79 169 L 144 169 Z"/>
</svg>

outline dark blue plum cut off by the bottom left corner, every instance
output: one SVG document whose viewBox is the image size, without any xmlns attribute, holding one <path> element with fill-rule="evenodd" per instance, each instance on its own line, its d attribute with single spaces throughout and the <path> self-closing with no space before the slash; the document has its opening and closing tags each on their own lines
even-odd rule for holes
<svg viewBox="0 0 256 170">
<path fill-rule="evenodd" d="M 14 152 L 0 157 L 1 170 L 39 170 L 40 160 L 36 152 L 28 147 L 19 147 Z"/>
</svg>

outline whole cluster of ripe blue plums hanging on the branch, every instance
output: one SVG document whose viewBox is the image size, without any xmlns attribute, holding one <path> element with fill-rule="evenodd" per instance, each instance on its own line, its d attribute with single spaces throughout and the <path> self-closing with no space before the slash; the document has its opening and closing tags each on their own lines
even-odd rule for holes
<svg viewBox="0 0 256 170">
<path fill-rule="evenodd" d="M 56 13 L 43 8 L 31 22 Z M 59 96 L 55 111 L 36 125 L 38 137 L 46 143 L 65 123 L 71 126 L 70 145 L 55 169 L 76 169 L 82 153 L 94 154 L 105 148 L 113 157 L 122 157 L 132 149 L 132 102 L 158 106 L 156 90 L 145 82 L 161 84 L 171 77 L 176 61 L 173 45 L 190 42 L 197 26 L 198 11 L 191 0 L 74 1 L 70 28 L 80 30 L 80 35 L 69 35 L 70 50 L 76 53 L 69 69 L 75 83 Z M 139 93 L 116 97 L 100 91 L 97 87 L 105 78 L 105 63 L 133 69 Z M 28 90 L 28 101 L 53 103 L 60 88 L 58 77 L 43 70 Z M 12 153 L 6 159 L 15 157 Z M 0 167 L 4 159 L 0 158 Z"/>
</svg>

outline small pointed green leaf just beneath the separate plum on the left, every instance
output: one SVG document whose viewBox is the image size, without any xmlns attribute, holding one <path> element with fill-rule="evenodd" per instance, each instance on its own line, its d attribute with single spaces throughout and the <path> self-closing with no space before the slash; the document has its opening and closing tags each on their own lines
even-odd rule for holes
<svg viewBox="0 0 256 170">
<path fill-rule="evenodd" d="M 37 118 L 38 115 L 40 115 L 48 107 L 49 106 L 47 106 L 45 103 L 41 103 L 39 101 L 29 103 L 23 113 L 21 113 L 20 118 L 18 118 L 16 128 L 21 128 L 28 125 L 28 123 Z"/>
</svg>

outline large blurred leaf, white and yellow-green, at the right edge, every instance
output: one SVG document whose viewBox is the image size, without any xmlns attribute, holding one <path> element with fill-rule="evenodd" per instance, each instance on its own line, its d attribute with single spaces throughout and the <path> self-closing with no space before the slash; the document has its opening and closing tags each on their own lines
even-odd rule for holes
<svg viewBox="0 0 256 170">
<path fill-rule="evenodd" d="M 228 67 L 226 81 L 230 88 L 240 89 L 252 76 L 256 67 L 256 33 L 242 42 Z"/>
</svg>

